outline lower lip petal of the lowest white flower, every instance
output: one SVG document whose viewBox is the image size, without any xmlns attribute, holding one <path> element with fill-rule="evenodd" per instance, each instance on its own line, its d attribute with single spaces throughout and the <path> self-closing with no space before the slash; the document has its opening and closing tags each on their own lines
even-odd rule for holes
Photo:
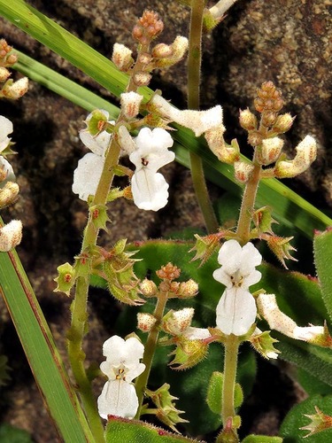
<svg viewBox="0 0 332 443">
<path fill-rule="evenodd" d="M 135 386 L 123 380 L 106 382 L 97 405 L 99 416 L 105 419 L 108 415 L 134 418 L 138 408 Z"/>
</svg>

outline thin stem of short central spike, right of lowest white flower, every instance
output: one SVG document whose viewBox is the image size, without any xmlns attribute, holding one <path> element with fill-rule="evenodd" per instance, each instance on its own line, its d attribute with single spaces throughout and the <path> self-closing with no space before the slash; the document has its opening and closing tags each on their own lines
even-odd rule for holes
<svg viewBox="0 0 332 443">
<path fill-rule="evenodd" d="M 159 335 L 159 325 L 161 319 L 164 315 L 164 310 L 166 307 L 168 292 L 160 291 L 158 295 L 158 302 L 156 305 L 156 309 L 154 311 L 153 316 L 157 319 L 157 322 L 153 325 L 151 329 L 148 339 L 146 340 L 146 344 L 144 346 L 144 355 L 143 355 L 143 363 L 145 364 L 145 369 L 143 373 L 137 377 L 135 388 L 138 397 L 138 409 L 135 418 L 139 419 L 141 415 L 142 405 L 143 405 L 143 397 L 146 389 L 146 385 L 148 384 L 148 379 L 150 376 L 153 356 L 156 352 L 158 335 Z"/>
</svg>

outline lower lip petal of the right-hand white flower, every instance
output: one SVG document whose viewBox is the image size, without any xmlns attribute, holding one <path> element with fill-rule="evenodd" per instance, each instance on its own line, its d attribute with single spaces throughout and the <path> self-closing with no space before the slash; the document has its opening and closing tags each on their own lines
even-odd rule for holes
<svg viewBox="0 0 332 443">
<path fill-rule="evenodd" d="M 257 308 L 249 291 L 242 288 L 227 289 L 217 306 L 217 327 L 224 334 L 246 334 L 255 323 Z"/>
</svg>

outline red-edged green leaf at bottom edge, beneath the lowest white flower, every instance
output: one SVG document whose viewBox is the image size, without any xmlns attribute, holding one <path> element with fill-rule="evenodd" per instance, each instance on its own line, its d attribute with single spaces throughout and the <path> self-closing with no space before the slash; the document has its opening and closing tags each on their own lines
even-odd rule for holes
<svg viewBox="0 0 332 443">
<path fill-rule="evenodd" d="M 119 417 L 112 417 L 107 423 L 105 440 L 106 443 L 119 443 L 120 441 L 128 443 L 134 441 L 135 443 L 198 443 L 197 439 L 188 439 L 173 432 L 164 431 L 152 424 Z"/>
</svg>

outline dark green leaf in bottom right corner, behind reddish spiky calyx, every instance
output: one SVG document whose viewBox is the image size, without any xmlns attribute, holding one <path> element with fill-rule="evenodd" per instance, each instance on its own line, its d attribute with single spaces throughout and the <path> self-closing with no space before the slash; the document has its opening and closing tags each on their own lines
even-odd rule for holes
<svg viewBox="0 0 332 443">
<path fill-rule="evenodd" d="M 311 423 L 305 414 L 310 416 L 315 414 L 315 406 L 320 408 L 324 414 L 332 416 L 332 395 L 326 397 L 315 395 L 292 408 L 282 423 L 280 433 L 284 443 L 327 443 L 332 441 L 332 429 L 321 431 L 307 438 L 305 435 L 308 434 L 308 431 L 300 430 L 303 426 Z"/>
</svg>

